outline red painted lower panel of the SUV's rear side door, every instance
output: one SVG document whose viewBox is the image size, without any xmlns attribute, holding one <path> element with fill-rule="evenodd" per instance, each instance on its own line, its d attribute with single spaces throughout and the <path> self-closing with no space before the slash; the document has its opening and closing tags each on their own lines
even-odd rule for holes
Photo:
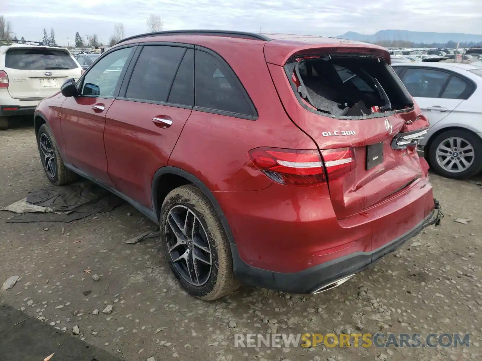
<svg viewBox="0 0 482 361">
<path fill-rule="evenodd" d="M 152 178 L 167 165 L 190 114 L 191 109 L 120 99 L 111 105 L 105 130 L 107 168 L 118 191 L 152 209 Z M 169 116 L 172 126 L 156 125 L 152 118 L 159 116 Z"/>
</svg>

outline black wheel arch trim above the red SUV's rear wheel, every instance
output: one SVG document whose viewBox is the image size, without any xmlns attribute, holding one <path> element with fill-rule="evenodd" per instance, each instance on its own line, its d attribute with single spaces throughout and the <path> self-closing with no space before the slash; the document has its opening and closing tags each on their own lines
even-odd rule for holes
<svg viewBox="0 0 482 361">
<path fill-rule="evenodd" d="M 193 174 L 181 168 L 166 166 L 166 167 L 159 168 L 156 171 L 156 173 L 154 173 L 154 177 L 152 178 L 152 185 L 151 185 L 151 201 L 152 201 L 152 209 L 154 210 L 159 221 L 161 220 L 161 206 L 162 206 L 157 204 L 159 182 L 161 180 L 161 177 L 166 174 L 174 174 L 174 175 L 183 177 L 201 190 L 201 192 L 209 199 L 211 204 L 214 206 L 214 210 L 216 211 L 216 214 L 218 215 L 219 219 L 221 219 L 221 223 L 223 224 L 224 231 L 226 232 L 229 243 L 235 244 L 236 242 L 234 241 L 233 233 L 231 232 L 231 228 L 229 227 L 228 219 L 226 219 L 226 216 L 223 210 L 221 209 L 221 206 L 219 205 L 216 197 L 214 197 L 213 192 L 211 192 L 210 189 L 199 178 L 197 178 Z"/>
</svg>

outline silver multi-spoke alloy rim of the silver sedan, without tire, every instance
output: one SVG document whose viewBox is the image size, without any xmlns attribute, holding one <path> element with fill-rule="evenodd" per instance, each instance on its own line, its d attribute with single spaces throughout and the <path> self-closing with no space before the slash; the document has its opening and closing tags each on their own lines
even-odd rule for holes
<svg viewBox="0 0 482 361">
<path fill-rule="evenodd" d="M 467 140 L 451 137 L 437 146 L 437 163 L 448 172 L 458 173 L 468 169 L 475 158 L 475 151 Z"/>
</svg>

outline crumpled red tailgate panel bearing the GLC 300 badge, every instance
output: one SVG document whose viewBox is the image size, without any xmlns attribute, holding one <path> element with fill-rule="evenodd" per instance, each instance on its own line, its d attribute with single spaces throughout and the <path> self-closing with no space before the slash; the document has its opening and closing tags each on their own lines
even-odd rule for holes
<svg viewBox="0 0 482 361">
<path fill-rule="evenodd" d="M 302 107 L 282 66 L 268 64 L 268 68 L 287 113 L 313 138 L 320 149 L 353 148 L 354 171 L 329 183 L 331 201 L 337 218 L 343 219 L 373 206 L 421 177 L 422 170 L 416 151 L 394 150 L 390 145 L 393 136 L 405 127 L 407 119 L 415 121 L 416 110 L 409 111 L 403 116 L 394 114 L 360 120 L 321 116 Z M 385 127 L 386 120 L 393 127 L 391 134 Z M 335 130 L 351 130 L 355 135 L 323 135 L 327 131 L 333 133 Z M 367 170 L 366 146 L 379 142 L 383 143 L 384 148 L 383 163 Z"/>
</svg>

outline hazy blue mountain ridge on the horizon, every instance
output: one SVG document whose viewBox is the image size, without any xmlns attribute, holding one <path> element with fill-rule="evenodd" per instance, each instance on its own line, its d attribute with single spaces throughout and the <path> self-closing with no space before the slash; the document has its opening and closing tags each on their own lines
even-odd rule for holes
<svg viewBox="0 0 482 361">
<path fill-rule="evenodd" d="M 338 38 L 360 41 L 381 41 L 381 40 L 406 40 L 414 43 L 446 43 L 447 41 L 475 42 L 482 43 L 482 35 L 462 34 L 462 33 L 425 33 L 421 31 L 409 30 L 380 30 L 376 34 L 364 35 L 348 31 Z"/>
</svg>

